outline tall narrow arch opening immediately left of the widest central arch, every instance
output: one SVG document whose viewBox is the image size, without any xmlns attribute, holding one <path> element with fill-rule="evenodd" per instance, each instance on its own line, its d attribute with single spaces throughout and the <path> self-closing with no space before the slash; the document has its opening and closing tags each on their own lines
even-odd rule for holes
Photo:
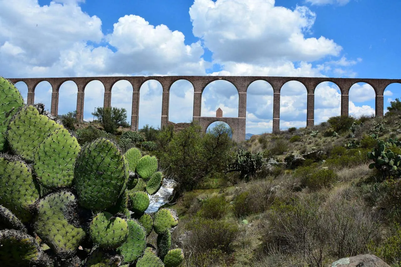
<svg viewBox="0 0 401 267">
<path fill-rule="evenodd" d="M 175 81 L 170 87 L 168 120 L 174 123 L 192 121 L 194 87 L 187 80 Z"/>
</svg>

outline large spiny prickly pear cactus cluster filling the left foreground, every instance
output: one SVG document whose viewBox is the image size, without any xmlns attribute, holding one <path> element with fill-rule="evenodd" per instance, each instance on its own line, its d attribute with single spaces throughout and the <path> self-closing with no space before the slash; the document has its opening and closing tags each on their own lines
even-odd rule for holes
<svg viewBox="0 0 401 267">
<path fill-rule="evenodd" d="M 174 210 L 146 213 L 163 182 L 156 157 L 111 140 L 79 146 L 44 111 L 24 105 L 0 77 L 0 265 L 38 267 L 178 266 L 169 250 Z M 158 234 L 157 255 L 148 245 Z"/>
</svg>

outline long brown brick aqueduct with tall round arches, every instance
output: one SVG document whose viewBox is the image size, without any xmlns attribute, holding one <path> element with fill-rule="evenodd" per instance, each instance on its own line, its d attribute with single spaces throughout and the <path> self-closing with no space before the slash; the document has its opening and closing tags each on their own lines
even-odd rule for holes
<svg viewBox="0 0 401 267">
<path fill-rule="evenodd" d="M 307 90 L 307 127 L 314 125 L 314 91 L 322 82 L 335 83 L 341 91 L 341 115 L 348 116 L 348 92 L 355 83 L 363 82 L 371 85 L 376 93 L 376 116 L 383 116 L 383 93 L 391 83 L 401 83 L 401 79 L 358 79 L 358 78 L 315 78 L 315 77 L 265 77 L 265 76 L 122 76 L 122 77 L 66 77 L 66 78 L 12 78 L 13 83 L 23 81 L 28 86 L 28 104 L 34 103 L 35 87 L 42 81 L 48 81 L 52 88 L 51 113 L 57 115 L 59 105 L 59 89 L 66 81 L 73 81 L 78 87 L 77 118 L 83 120 L 83 101 L 85 86 L 91 81 L 100 81 L 104 85 L 103 106 L 111 106 L 111 88 L 117 81 L 126 80 L 132 84 L 132 116 L 131 127 L 138 130 L 139 91 L 143 83 L 149 80 L 160 82 L 163 88 L 161 127 L 168 123 L 169 93 L 171 85 L 178 80 L 189 81 L 194 88 L 193 121 L 199 121 L 203 129 L 215 121 L 224 121 L 233 130 L 233 140 L 245 140 L 245 114 L 247 105 L 247 89 L 254 81 L 263 80 L 273 87 L 273 133 L 279 131 L 280 125 L 280 90 L 289 81 L 301 82 Z M 202 117 L 202 92 L 205 87 L 217 80 L 232 83 L 238 91 L 238 117 Z"/>
</svg>

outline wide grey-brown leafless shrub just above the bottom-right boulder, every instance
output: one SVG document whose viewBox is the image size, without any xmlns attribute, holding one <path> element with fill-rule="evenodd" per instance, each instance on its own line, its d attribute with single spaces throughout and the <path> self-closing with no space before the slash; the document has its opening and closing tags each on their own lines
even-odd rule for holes
<svg viewBox="0 0 401 267">
<path fill-rule="evenodd" d="M 325 259 L 363 254 L 379 233 L 377 217 L 344 194 L 301 195 L 292 204 L 276 206 L 265 231 L 265 251 L 302 255 L 304 264 L 323 266 Z"/>
</svg>

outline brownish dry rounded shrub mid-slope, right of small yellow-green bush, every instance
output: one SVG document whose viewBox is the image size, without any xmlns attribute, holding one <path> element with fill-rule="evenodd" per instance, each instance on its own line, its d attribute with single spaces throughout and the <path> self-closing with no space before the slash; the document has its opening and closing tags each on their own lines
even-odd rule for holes
<svg viewBox="0 0 401 267">
<path fill-rule="evenodd" d="M 260 180 L 249 184 L 245 190 L 235 196 L 233 211 L 237 217 L 266 211 L 275 198 L 273 184 Z"/>
</svg>

